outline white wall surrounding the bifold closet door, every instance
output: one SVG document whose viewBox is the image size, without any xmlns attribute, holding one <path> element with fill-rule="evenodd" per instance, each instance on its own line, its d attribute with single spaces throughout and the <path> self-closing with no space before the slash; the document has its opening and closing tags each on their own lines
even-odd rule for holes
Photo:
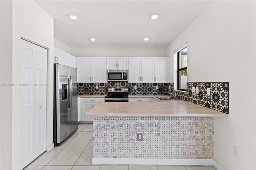
<svg viewBox="0 0 256 170">
<path fill-rule="evenodd" d="M 12 81 L 20 83 L 20 38 L 26 38 L 48 48 L 47 82 L 47 118 L 46 145 L 52 144 L 53 126 L 53 18 L 34 1 L 13 1 L 12 6 Z M 20 168 L 20 87 L 12 91 L 12 169 Z M 11 142 L 11 141 L 10 141 Z"/>
</svg>

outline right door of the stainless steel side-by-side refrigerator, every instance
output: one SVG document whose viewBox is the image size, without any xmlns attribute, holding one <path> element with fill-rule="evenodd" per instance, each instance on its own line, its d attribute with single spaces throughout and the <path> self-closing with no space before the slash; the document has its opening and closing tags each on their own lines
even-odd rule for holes
<svg viewBox="0 0 256 170">
<path fill-rule="evenodd" d="M 77 117 L 77 76 L 76 69 L 69 67 L 69 74 L 72 82 L 72 102 L 71 102 L 71 119 L 70 119 L 70 134 L 78 128 Z"/>
</svg>

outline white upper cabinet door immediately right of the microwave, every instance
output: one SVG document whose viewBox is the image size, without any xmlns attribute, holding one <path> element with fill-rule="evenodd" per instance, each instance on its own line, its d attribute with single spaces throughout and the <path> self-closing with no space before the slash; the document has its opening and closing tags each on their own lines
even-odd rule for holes
<svg viewBox="0 0 256 170">
<path fill-rule="evenodd" d="M 129 83 L 141 82 L 141 57 L 129 57 Z"/>
</svg>

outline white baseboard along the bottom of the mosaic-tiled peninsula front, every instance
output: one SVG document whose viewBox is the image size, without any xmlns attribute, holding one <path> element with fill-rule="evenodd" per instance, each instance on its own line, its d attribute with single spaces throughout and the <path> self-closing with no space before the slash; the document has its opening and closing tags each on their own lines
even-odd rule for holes
<svg viewBox="0 0 256 170">
<path fill-rule="evenodd" d="M 143 158 L 92 158 L 92 164 L 129 165 L 205 165 L 212 166 L 212 159 L 143 159 Z"/>
</svg>

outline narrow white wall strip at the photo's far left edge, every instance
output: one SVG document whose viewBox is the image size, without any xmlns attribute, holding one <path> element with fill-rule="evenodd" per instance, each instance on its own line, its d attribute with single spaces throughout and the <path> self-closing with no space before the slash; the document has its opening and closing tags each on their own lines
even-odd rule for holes
<svg viewBox="0 0 256 170">
<path fill-rule="evenodd" d="M 0 82 L 12 83 L 12 1 L 0 1 Z M 12 168 L 12 87 L 0 87 L 0 169 Z"/>
</svg>

